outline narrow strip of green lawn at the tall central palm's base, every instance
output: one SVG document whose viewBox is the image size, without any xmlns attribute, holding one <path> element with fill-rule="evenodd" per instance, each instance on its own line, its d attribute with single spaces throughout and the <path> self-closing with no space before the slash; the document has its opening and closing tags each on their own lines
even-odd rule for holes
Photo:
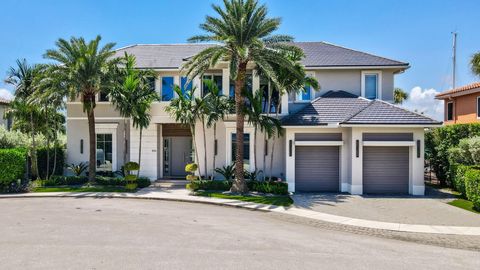
<svg viewBox="0 0 480 270">
<path fill-rule="evenodd" d="M 245 202 L 254 202 L 262 204 L 272 204 L 278 206 L 290 206 L 293 203 L 293 200 L 289 196 L 252 196 L 252 195 L 230 195 L 223 194 L 221 192 L 215 191 L 197 191 L 195 192 L 196 196 L 220 198 L 220 199 L 232 199 Z"/>
</svg>

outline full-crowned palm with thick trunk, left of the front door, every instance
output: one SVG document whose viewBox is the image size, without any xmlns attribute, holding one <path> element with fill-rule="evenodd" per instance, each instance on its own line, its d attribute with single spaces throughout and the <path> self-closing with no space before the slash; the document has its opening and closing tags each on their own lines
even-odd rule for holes
<svg viewBox="0 0 480 270">
<path fill-rule="evenodd" d="M 101 37 L 86 42 L 83 38 L 59 39 L 56 49 L 47 50 L 44 57 L 55 60 L 54 69 L 69 90 L 71 99 L 80 98 L 83 111 L 87 114 L 89 135 L 88 179 L 95 181 L 96 173 L 96 96 L 101 91 L 109 91 L 114 85 L 117 58 L 113 58 L 114 43 L 100 47 Z"/>
</svg>

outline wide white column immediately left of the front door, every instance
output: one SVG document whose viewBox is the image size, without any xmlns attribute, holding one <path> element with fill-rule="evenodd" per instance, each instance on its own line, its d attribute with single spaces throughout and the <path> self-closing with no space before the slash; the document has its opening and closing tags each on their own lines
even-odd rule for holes
<svg viewBox="0 0 480 270">
<path fill-rule="evenodd" d="M 152 123 L 142 131 L 142 160 L 140 175 L 157 179 L 157 124 Z M 130 125 L 130 160 L 138 162 L 140 130 Z"/>
</svg>

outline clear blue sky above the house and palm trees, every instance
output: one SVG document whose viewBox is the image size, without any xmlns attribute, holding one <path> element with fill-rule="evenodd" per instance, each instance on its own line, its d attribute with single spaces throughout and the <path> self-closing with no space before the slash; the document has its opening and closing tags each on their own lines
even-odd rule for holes
<svg viewBox="0 0 480 270">
<path fill-rule="evenodd" d="M 219 1 L 2 0 L 0 76 L 17 58 L 42 62 L 42 54 L 60 37 L 101 34 L 117 47 L 185 42 L 199 32 L 198 24 L 205 14 L 212 14 L 214 2 Z M 434 93 L 428 89 L 441 91 L 450 85 L 454 30 L 459 33 L 457 85 L 480 80 L 468 66 L 470 56 L 480 51 L 478 0 L 261 2 L 269 6 L 272 16 L 283 18 L 279 33 L 298 41 L 328 41 L 409 62 L 412 67 L 396 77 L 395 85 L 407 91 L 417 89 L 413 98 L 422 102 Z M 3 80 L 0 88 L 11 90 Z M 411 106 L 421 111 L 431 107 L 422 102 Z"/>
</svg>

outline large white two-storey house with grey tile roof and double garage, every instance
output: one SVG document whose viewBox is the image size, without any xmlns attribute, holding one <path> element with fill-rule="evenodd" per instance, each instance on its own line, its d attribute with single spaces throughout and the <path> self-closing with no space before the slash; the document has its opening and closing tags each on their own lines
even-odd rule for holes
<svg viewBox="0 0 480 270">
<path fill-rule="evenodd" d="M 286 180 L 291 192 L 423 195 L 424 129 L 441 123 L 391 104 L 395 74 L 404 72 L 409 64 L 325 42 L 295 44 L 305 51 L 303 64 L 308 76 L 317 78 L 322 88 L 318 92 L 306 88 L 304 93 L 277 99 L 285 133 L 268 142 L 263 135 L 257 136 L 258 168 L 254 168 L 253 161 L 254 129 L 245 124 L 245 167 L 268 173 L 274 147 L 273 175 Z M 162 101 L 151 108 L 152 121 L 143 131 L 142 142 L 141 174 L 152 180 L 184 177 L 185 164 L 194 156 L 189 130 L 165 112 L 176 95 L 173 85 L 186 90 L 193 84 L 198 88 L 197 96 L 201 96 L 206 90 L 202 80 L 212 79 L 224 95 L 232 96 L 233 83 L 226 62 L 186 85 L 182 64 L 208 46 L 211 45 L 146 44 L 116 52 L 117 56 L 125 52 L 135 55 L 138 68 L 151 68 L 158 74 L 152 80 L 152 87 Z M 253 64 L 248 68 L 248 88 L 268 91 L 268 80 L 252 73 Z M 107 95 L 101 94 L 98 99 L 97 169 L 119 170 L 125 162 L 125 145 L 127 159 L 138 160 L 139 131 L 114 110 Z M 205 149 L 201 125 L 197 125 L 195 137 L 200 157 L 197 162 L 203 171 Z M 79 101 L 67 103 L 67 135 L 68 163 L 87 161 L 88 125 Z M 210 128 L 206 131 L 209 175 L 214 168 L 229 165 L 234 159 L 234 115 L 218 123 L 217 141 L 213 138 Z M 265 149 L 268 154 L 264 166 Z M 215 165 L 213 155 L 216 155 Z"/>
</svg>

